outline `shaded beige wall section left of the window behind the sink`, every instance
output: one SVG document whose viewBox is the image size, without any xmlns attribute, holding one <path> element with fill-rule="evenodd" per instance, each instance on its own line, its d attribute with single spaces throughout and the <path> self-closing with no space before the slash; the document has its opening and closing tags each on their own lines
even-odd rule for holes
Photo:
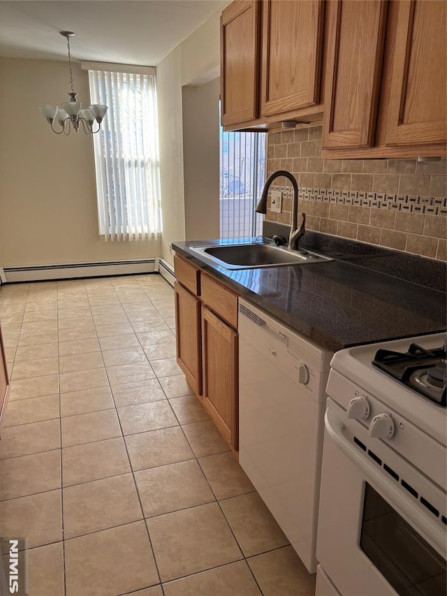
<svg viewBox="0 0 447 596">
<path fill-rule="evenodd" d="M 186 240 L 219 238 L 219 78 L 183 87 Z"/>
</svg>

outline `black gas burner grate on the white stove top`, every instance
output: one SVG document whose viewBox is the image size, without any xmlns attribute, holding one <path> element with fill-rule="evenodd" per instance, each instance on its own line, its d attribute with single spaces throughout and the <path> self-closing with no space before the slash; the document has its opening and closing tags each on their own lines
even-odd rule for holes
<svg viewBox="0 0 447 596">
<path fill-rule="evenodd" d="M 437 405 L 446 407 L 446 344 L 425 349 L 411 344 L 408 351 L 379 349 L 372 361 L 386 375 Z"/>
</svg>

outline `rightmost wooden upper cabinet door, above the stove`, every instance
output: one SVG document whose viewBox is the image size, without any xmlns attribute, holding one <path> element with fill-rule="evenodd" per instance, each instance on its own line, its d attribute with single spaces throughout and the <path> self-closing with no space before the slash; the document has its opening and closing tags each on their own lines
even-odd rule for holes
<svg viewBox="0 0 447 596">
<path fill-rule="evenodd" d="M 387 145 L 446 142 L 447 3 L 400 0 Z"/>
</svg>

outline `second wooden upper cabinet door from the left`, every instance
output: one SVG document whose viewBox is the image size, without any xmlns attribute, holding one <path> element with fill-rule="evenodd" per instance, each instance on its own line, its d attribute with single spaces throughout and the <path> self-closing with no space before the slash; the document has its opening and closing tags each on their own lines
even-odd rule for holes
<svg viewBox="0 0 447 596">
<path fill-rule="evenodd" d="M 264 0 L 261 115 L 318 104 L 324 3 Z"/>
</svg>

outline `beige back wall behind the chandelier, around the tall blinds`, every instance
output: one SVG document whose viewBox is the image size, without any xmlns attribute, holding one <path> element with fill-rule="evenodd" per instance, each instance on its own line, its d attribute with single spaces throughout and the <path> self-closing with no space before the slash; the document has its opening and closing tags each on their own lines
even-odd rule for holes
<svg viewBox="0 0 447 596">
<path fill-rule="evenodd" d="M 88 104 L 87 72 L 73 78 Z M 91 138 L 55 135 L 38 110 L 67 92 L 63 61 L 0 59 L 0 266 L 160 256 L 160 240 L 99 238 Z"/>
</svg>

